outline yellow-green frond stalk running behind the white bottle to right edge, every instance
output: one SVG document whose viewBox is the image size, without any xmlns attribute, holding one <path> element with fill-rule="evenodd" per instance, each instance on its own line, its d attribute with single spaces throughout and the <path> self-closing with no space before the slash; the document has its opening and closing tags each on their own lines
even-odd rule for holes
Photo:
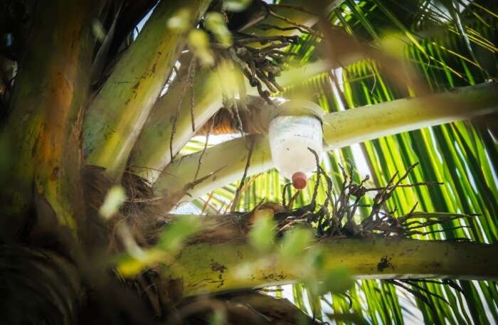
<svg viewBox="0 0 498 325">
<path fill-rule="evenodd" d="M 326 149 L 341 148 L 391 134 L 476 117 L 496 112 L 497 109 L 498 83 L 488 82 L 428 97 L 394 100 L 327 114 L 324 117 L 324 141 Z M 273 166 L 267 139 L 253 137 L 256 137 L 256 142 L 248 175 L 267 171 Z M 191 196 L 184 199 L 196 198 L 240 179 L 248 156 L 249 141 L 250 137 L 245 137 L 207 149 L 198 179 L 217 172 L 198 183 L 189 191 Z M 167 166 L 154 184 L 157 193 L 166 197 L 173 193 L 178 195 L 181 186 L 194 180 L 199 155 L 181 157 Z"/>
</svg>

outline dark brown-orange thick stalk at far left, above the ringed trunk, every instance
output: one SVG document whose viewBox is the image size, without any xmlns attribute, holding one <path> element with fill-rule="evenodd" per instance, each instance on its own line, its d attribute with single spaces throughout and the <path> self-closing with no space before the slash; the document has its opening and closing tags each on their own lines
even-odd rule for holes
<svg viewBox="0 0 498 325">
<path fill-rule="evenodd" d="M 83 211 L 80 131 L 95 38 L 91 21 L 103 4 L 51 1 L 36 12 L 16 77 L 3 136 L 11 143 L 8 186 L 2 186 L 5 240 L 37 214 L 38 228 L 58 225 L 75 236 Z M 43 230 L 42 230 L 43 231 Z"/>
</svg>

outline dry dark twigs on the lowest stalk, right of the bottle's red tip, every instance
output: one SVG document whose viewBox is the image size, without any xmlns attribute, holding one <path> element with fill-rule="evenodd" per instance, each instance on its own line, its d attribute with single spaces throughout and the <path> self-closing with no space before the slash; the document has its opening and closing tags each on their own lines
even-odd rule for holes
<svg viewBox="0 0 498 325">
<path fill-rule="evenodd" d="M 312 150 L 317 160 L 317 181 L 314 186 L 312 201 L 301 208 L 292 210 L 292 201 L 289 203 L 282 197 L 282 206 L 285 211 L 275 215 L 277 220 L 280 220 L 280 230 L 287 230 L 290 225 L 296 223 L 313 225 L 316 228 L 317 235 L 332 236 L 332 237 L 354 237 L 354 238 L 408 238 L 412 235 L 428 235 L 430 233 L 440 233 L 446 230 L 455 230 L 465 228 L 465 225 L 458 225 L 445 230 L 428 230 L 423 231 L 426 227 L 433 225 L 443 225 L 443 223 L 461 218 L 470 218 L 475 215 L 465 215 L 459 213 L 423 213 L 416 212 L 417 204 L 413 206 L 411 211 L 405 215 L 395 216 L 396 209 L 388 211 L 386 202 L 393 196 L 393 192 L 397 188 L 403 187 L 418 187 L 418 186 L 431 186 L 441 185 L 438 182 L 422 182 L 422 183 L 408 183 L 402 182 L 408 178 L 415 166 L 413 164 L 408 168 L 405 174 L 401 175 L 396 181 L 398 173 L 394 174 L 388 181 L 386 186 L 369 188 L 366 186 L 366 181 L 369 176 L 366 176 L 359 183 L 354 182 L 354 171 L 351 169 L 347 173 L 344 167 L 339 165 L 341 169 L 343 182 L 338 188 L 338 191 L 332 191 L 332 179 L 319 165 L 317 154 Z M 327 195 L 322 204 L 317 203 L 317 193 L 319 183 L 324 179 L 327 183 Z M 285 187 L 290 186 L 286 184 Z M 369 192 L 376 193 L 373 196 L 371 204 L 365 204 L 365 196 Z M 297 192 L 299 193 L 299 192 Z M 297 194 L 296 193 L 296 194 Z M 361 221 L 355 220 L 356 211 L 359 208 L 366 208 L 369 210 L 369 215 Z"/>
</svg>

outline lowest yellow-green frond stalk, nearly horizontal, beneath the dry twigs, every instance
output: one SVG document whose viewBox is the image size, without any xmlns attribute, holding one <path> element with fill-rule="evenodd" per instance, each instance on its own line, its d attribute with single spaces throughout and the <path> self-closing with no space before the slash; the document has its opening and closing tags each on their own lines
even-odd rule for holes
<svg viewBox="0 0 498 325">
<path fill-rule="evenodd" d="M 410 239 L 329 239 L 315 245 L 325 251 L 326 270 L 345 268 L 359 279 L 498 277 L 497 245 Z M 264 262 L 245 242 L 202 243 L 186 246 L 164 275 L 179 279 L 186 296 L 267 287 L 297 282 L 302 277 L 297 259 Z"/>
</svg>

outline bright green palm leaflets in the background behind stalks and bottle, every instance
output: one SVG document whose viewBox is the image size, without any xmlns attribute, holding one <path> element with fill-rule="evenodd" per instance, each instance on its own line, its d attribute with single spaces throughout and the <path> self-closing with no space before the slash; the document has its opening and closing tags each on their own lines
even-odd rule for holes
<svg viewBox="0 0 498 325">
<path fill-rule="evenodd" d="M 384 37 L 394 35 L 403 43 L 403 54 L 426 85 L 433 91 L 484 82 L 497 71 L 497 14 L 482 4 L 485 1 L 344 1 L 330 13 L 332 24 L 344 28 L 358 38 L 379 45 Z M 300 42 L 290 46 L 301 63 L 319 57 L 319 39 L 301 36 Z M 347 65 L 307 80 L 304 88 L 314 94 L 314 100 L 327 112 L 354 109 L 378 102 L 416 95 L 408 88 L 401 89 L 386 79 L 383 67 L 371 60 Z M 337 78 L 336 78 L 337 77 Z M 335 80 L 334 80 L 335 79 Z M 292 87 L 284 94 L 292 97 Z M 322 166 L 339 188 L 341 172 L 338 165 L 356 169 L 357 181 L 370 174 L 377 186 L 385 186 L 396 171 L 405 172 L 420 163 L 410 174 L 409 183 L 441 181 L 440 187 L 403 188 L 393 194 L 388 209 L 397 208 L 408 213 L 415 204 L 423 211 L 478 214 L 477 218 L 449 220 L 443 225 L 427 225 L 424 230 L 438 233 L 414 235 L 418 239 L 468 238 L 479 243 L 497 243 L 498 189 L 497 142 L 489 124 L 479 121 L 457 122 L 428 129 L 383 137 L 363 144 L 336 149 L 327 154 Z M 312 178 L 314 183 L 316 178 Z M 287 201 L 295 191 L 277 171 L 253 176 L 243 188 L 238 209 L 254 208 L 263 199 Z M 228 206 L 238 183 L 225 186 L 199 199 L 211 211 Z M 320 184 L 318 197 L 327 192 Z M 307 204 L 312 189 L 302 191 L 296 205 Z M 201 203 L 201 204 L 199 204 Z M 207 210 L 206 210 L 207 211 Z M 364 211 L 359 211 L 359 217 Z M 468 228 L 459 228 L 465 226 Z M 284 292 L 286 289 L 284 290 Z M 287 290 L 288 291 L 288 290 Z M 410 319 L 427 324 L 490 324 L 498 321 L 497 285 L 490 281 L 406 282 L 402 285 L 380 280 L 358 281 L 342 297 L 327 294 L 309 297 L 303 284 L 292 286 L 293 302 L 309 314 L 354 312 L 369 324 L 404 324 Z M 318 315 L 317 315 L 318 316 Z M 326 317 L 326 316 L 325 316 Z M 337 324 L 351 324 L 338 320 Z"/>
</svg>

